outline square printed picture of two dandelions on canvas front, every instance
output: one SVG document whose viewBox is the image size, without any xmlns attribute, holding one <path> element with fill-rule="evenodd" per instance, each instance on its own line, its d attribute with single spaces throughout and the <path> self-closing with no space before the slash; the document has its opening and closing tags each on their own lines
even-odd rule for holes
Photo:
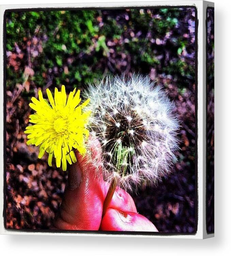
<svg viewBox="0 0 231 256">
<path fill-rule="evenodd" d="M 7 10 L 5 228 L 197 231 L 197 10 Z"/>
</svg>

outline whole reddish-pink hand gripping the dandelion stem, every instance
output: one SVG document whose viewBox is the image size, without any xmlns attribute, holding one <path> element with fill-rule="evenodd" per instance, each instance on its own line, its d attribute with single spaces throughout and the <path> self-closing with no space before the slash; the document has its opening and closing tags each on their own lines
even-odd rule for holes
<svg viewBox="0 0 231 256">
<path fill-rule="evenodd" d="M 91 141 L 92 158 L 101 159 L 97 140 Z M 76 153 L 77 163 L 69 168 L 63 200 L 52 229 L 153 231 L 156 227 L 137 213 L 132 197 L 120 187 L 116 188 L 109 208 L 102 218 L 103 203 L 109 184 L 103 180 L 102 171 L 95 177 L 95 168 L 87 157 Z"/>
</svg>

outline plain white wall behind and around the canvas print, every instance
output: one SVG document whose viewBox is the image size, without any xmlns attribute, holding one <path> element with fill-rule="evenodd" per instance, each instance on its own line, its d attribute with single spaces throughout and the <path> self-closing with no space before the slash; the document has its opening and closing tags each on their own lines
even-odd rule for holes
<svg viewBox="0 0 231 256">
<path fill-rule="evenodd" d="M 126 0 L 127 2 L 129 0 Z M 63 0 L 2 4 L 63 3 Z M 66 0 L 110 2 L 110 0 Z M 112 0 L 111 2 L 116 2 Z M 117 0 L 117 2 L 123 2 Z M 142 0 L 140 0 L 142 2 Z M 231 253 L 231 4 L 215 2 L 215 238 L 206 240 L 68 236 L 0 236 L 1 255 L 228 255 Z"/>
</svg>

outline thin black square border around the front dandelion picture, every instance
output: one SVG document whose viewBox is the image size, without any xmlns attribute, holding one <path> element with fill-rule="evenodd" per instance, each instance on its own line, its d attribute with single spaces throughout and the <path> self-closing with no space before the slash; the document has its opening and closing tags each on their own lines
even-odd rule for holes
<svg viewBox="0 0 231 256">
<path fill-rule="evenodd" d="M 195 10 L 195 231 L 194 232 L 147 232 L 147 231 L 92 231 L 92 230 L 51 230 L 51 229 L 10 229 L 6 228 L 6 14 L 9 12 L 28 12 L 28 11 L 74 11 L 74 10 L 124 10 L 124 9 L 173 9 L 173 8 L 191 8 Z M 174 235 L 195 235 L 198 230 L 198 13 L 197 8 L 194 5 L 163 5 L 163 6 L 123 6 L 123 7 L 76 7 L 76 8 L 23 8 L 23 9 L 8 9 L 4 12 L 3 17 L 3 93 L 4 93 L 4 128 L 3 128 L 3 171 L 4 171 L 4 207 L 3 207 L 3 217 L 4 217 L 4 228 L 9 231 L 18 232 L 49 232 L 49 233 L 87 233 L 87 234 L 122 234 L 122 235 L 143 235 L 143 236 L 174 236 Z"/>
</svg>

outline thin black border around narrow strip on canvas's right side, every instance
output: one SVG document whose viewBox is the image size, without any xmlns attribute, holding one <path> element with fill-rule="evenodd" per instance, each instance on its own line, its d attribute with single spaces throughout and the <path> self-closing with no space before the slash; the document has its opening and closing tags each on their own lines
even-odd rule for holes
<svg viewBox="0 0 231 256">
<path fill-rule="evenodd" d="M 208 173 L 209 173 L 209 161 L 208 161 L 208 151 L 209 151 L 209 145 L 208 145 L 208 142 L 207 142 L 207 135 L 208 135 L 208 96 L 209 96 L 209 91 L 208 91 L 208 47 L 209 47 L 209 44 L 208 44 L 208 10 L 213 10 L 214 11 L 214 7 L 212 6 L 208 6 L 206 8 L 206 19 L 205 19 L 205 34 L 206 34 L 206 43 L 205 43 L 205 51 L 206 51 L 206 100 L 205 100 L 205 104 L 206 104 L 206 110 L 205 110 L 205 113 L 206 113 L 206 135 L 205 135 L 205 138 L 206 138 L 206 149 L 205 149 L 205 154 L 206 154 L 206 191 L 205 191 L 205 224 L 206 224 L 206 232 L 207 234 L 214 234 L 214 230 L 213 231 L 208 231 L 208 189 L 207 189 L 207 185 L 209 183 L 209 177 L 208 177 Z M 215 25 L 215 24 L 214 24 Z M 214 169 L 214 172 L 215 172 L 215 169 Z"/>
</svg>

